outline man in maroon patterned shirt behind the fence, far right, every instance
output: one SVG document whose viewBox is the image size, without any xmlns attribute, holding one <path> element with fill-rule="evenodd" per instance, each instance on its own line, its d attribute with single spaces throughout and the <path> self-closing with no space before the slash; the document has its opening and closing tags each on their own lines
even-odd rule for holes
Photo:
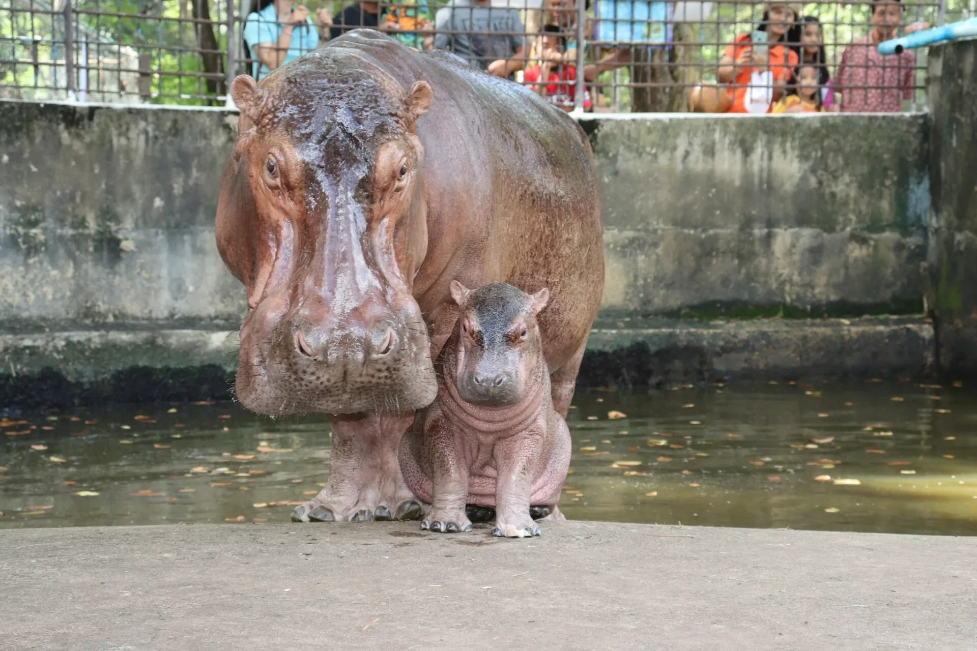
<svg viewBox="0 0 977 651">
<path fill-rule="evenodd" d="M 834 90 L 841 94 L 842 112 L 898 112 L 903 109 L 903 100 L 913 99 L 913 51 L 880 55 L 877 49 L 882 41 L 896 37 L 901 21 L 898 0 L 871 0 L 871 30 L 845 48 L 838 65 Z M 916 22 L 906 28 L 906 33 L 928 27 L 926 22 Z"/>
</svg>

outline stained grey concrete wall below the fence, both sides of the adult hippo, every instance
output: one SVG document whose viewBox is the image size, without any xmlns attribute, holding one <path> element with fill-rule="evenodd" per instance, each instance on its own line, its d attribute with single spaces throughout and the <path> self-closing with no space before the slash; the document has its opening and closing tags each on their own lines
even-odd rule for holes
<svg viewBox="0 0 977 651">
<path fill-rule="evenodd" d="M 236 119 L 219 109 L 0 102 L 0 325 L 235 323 L 213 219 Z M 920 311 L 927 121 L 583 121 L 610 312 L 844 305 Z"/>
</svg>

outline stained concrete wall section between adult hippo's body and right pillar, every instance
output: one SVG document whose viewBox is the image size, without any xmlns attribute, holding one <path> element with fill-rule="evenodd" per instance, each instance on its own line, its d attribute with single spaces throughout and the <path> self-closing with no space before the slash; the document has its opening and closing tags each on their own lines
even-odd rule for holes
<svg viewBox="0 0 977 651">
<path fill-rule="evenodd" d="M 585 120 L 606 308 L 922 311 L 924 114 Z"/>
</svg>

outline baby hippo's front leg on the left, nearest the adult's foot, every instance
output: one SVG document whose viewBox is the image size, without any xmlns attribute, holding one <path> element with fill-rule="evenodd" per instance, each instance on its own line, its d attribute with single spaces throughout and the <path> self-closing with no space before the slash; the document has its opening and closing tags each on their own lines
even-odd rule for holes
<svg viewBox="0 0 977 651">
<path fill-rule="evenodd" d="M 471 531 L 465 514 L 468 501 L 468 466 L 458 447 L 459 438 L 441 418 L 428 422 L 426 452 L 431 460 L 431 510 L 421 520 L 421 529 L 441 533 Z"/>
</svg>

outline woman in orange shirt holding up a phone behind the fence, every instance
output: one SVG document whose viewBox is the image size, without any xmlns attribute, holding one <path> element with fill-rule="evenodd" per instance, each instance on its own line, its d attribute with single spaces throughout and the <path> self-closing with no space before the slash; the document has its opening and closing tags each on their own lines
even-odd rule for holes
<svg viewBox="0 0 977 651">
<path fill-rule="evenodd" d="M 794 12 L 786 3 L 773 2 L 767 6 L 756 28 L 757 31 L 767 32 L 765 46 L 754 46 L 751 35 L 745 33 L 726 47 L 716 68 L 716 79 L 723 84 L 734 84 L 729 89 L 733 105 L 728 112 L 751 112 L 747 107 L 747 93 L 753 90 L 749 86 L 754 73 L 770 72 L 773 82 L 770 99 L 776 102 L 781 98 L 789 71 L 797 65 L 797 54 L 788 49 L 785 43 L 786 32 L 793 19 Z M 761 110 L 769 112 L 770 105 Z M 755 108 L 752 112 L 755 112 Z"/>
</svg>

